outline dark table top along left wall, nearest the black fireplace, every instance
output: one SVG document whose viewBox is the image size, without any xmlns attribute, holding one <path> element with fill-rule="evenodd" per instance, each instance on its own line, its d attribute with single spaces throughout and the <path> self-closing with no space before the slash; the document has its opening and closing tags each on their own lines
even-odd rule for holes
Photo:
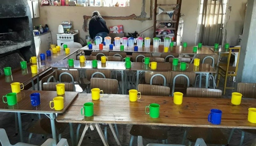
<svg viewBox="0 0 256 146">
<path fill-rule="evenodd" d="M 37 72 L 36 74 L 31 73 L 31 65 L 37 65 Z M 40 75 L 44 73 L 45 71 L 49 70 L 51 68 L 52 62 L 45 62 L 45 65 L 41 62 L 37 62 L 37 64 L 27 64 L 27 69 L 21 69 L 17 68 L 12 70 L 12 75 L 11 76 L 5 76 L 1 75 L 0 76 L 0 88 L 11 88 L 11 83 L 13 82 L 20 82 L 20 83 L 26 83 L 26 82 L 31 82 L 31 79 L 33 79 L 35 76 Z"/>
</svg>

